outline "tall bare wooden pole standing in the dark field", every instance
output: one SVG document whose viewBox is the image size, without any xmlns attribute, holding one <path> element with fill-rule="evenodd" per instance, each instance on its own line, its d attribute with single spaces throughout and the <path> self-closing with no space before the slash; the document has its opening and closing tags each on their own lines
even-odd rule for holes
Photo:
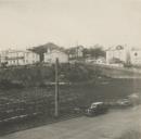
<svg viewBox="0 0 141 139">
<path fill-rule="evenodd" d="M 59 116 L 59 59 L 55 60 L 55 112 L 54 116 Z"/>
</svg>

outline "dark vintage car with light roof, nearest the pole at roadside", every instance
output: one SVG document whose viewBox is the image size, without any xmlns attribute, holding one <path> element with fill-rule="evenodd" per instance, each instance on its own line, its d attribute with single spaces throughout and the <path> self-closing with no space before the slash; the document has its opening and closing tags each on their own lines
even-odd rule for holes
<svg viewBox="0 0 141 139">
<path fill-rule="evenodd" d="M 94 102 L 90 108 L 86 110 L 87 116 L 95 116 L 99 114 L 104 114 L 108 110 L 107 105 L 104 102 Z"/>
</svg>

